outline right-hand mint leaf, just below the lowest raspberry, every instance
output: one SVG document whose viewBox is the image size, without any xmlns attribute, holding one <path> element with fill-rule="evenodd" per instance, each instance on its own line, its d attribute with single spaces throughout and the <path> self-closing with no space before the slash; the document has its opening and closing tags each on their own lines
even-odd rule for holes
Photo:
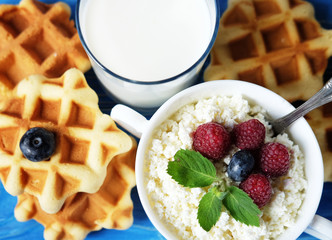
<svg viewBox="0 0 332 240">
<path fill-rule="evenodd" d="M 261 213 L 253 200 L 238 187 L 228 187 L 228 194 L 223 199 L 223 204 L 233 218 L 246 225 L 259 227 L 259 217 Z"/>
</svg>

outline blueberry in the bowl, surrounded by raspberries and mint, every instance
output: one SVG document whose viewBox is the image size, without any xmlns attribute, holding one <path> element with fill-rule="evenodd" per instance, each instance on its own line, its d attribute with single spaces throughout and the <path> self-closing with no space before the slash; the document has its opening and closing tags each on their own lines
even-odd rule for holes
<svg viewBox="0 0 332 240">
<path fill-rule="evenodd" d="M 233 181 L 241 182 L 249 176 L 254 165 L 255 159 L 250 152 L 246 150 L 238 151 L 233 155 L 227 167 L 228 177 Z"/>
</svg>

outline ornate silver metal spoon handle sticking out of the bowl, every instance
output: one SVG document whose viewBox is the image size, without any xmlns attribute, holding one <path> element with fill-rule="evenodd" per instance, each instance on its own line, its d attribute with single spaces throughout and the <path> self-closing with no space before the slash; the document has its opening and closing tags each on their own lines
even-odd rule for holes
<svg viewBox="0 0 332 240">
<path fill-rule="evenodd" d="M 318 108 L 326 103 L 332 101 L 332 78 L 327 81 L 324 87 L 319 90 L 314 96 L 312 96 L 305 103 L 300 105 L 294 111 L 281 117 L 279 119 L 271 121 L 273 131 L 275 135 L 278 135 L 285 131 L 285 129 L 291 125 L 295 120 L 303 117 L 311 110 Z"/>
</svg>

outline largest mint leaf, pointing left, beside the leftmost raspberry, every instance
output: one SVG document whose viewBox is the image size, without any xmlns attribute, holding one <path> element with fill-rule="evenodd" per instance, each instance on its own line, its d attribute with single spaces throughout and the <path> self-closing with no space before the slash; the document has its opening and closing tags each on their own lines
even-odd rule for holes
<svg viewBox="0 0 332 240">
<path fill-rule="evenodd" d="M 168 163 L 167 173 L 185 187 L 206 187 L 216 180 L 216 168 L 199 152 L 179 150 Z"/>
</svg>

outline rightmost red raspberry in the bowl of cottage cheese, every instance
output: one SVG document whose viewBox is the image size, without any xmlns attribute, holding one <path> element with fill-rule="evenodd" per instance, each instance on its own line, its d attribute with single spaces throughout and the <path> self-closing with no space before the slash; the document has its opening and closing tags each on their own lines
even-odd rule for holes
<svg viewBox="0 0 332 240">
<path fill-rule="evenodd" d="M 289 153 L 281 143 L 267 143 L 260 150 L 259 166 L 270 177 L 285 175 L 289 169 Z"/>
</svg>

